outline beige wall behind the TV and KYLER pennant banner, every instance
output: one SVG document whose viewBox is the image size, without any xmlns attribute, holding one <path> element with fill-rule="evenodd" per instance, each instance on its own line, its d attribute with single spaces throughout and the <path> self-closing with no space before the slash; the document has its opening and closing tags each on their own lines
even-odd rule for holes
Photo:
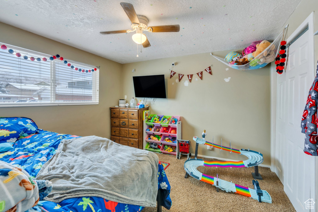
<svg viewBox="0 0 318 212">
<path fill-rule="evenodd" d="M 225 56 L 230 51 L 216 52 Z M 176 83 L 177 75 L 169 79 L 172 62 L 177 65 L 173 71 L 182 74 L 195 74 L 188 86 L 185 75 Z M 203 73 L 203 80 L 196 75 L 209 65 L 213 65 L 211 76 Z M 151 113 L 182 116 L 182 139 L 201 137 L 207 131 L 207 140 L 212 140 L 233 148 L 250 148 L 264 155 L 264 164 L 270 164 L 270 87 L 269 65 L 255 71 L 239 71 L 229 68 L 213 58 L 210 53 L 163 58 L 124 64 L 122 68 L 122 96 L 129 101 L 134 97 L 132 76 L 165 74 L 168 99 L 156 99 L 150 105 Z M 133 73 L 132 69 L 136 69 Z M 224 78 L 231 77 L 229 82 Z M 197 80 L 196 80 L 197 79 Z M 154 88 L 156 92 L 156 88 Z M 198 154 L 244 160 L 239 154 L 230 154 L 218 149 L 207 150 L 200 145 Z"/>
</svg>

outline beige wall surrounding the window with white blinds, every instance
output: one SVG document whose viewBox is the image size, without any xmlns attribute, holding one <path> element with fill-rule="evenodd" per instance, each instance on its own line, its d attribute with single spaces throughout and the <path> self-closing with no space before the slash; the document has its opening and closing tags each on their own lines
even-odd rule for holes
<svg viewBox="0 0 318 212">
<path fill-rule="evenodd" d="M 58 133 L 110 137 L 109 107 L 121 94 L 121 64 L 1 22 L 0 42 L 100 65 L 99 105 L 0 107 L 0 117 L 29 117 L 39 128 Z"/>
</svg>

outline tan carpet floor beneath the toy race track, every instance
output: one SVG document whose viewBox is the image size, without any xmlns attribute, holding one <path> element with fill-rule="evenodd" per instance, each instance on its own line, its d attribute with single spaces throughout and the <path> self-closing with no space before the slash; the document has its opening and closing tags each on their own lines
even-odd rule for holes
<svg viewBox="0 0 318 212">
<path fill-rule="evenodd" d="M 181 156 L 180 160 L 177 160 L 175 156 L 167 154 L 158 154 L 158 156 L 160 161 L 170 163 L 165 171 L 171 185 L 170 197 L 172 199 L 172 207 L 170 210 L 162 207 L 162 211 L 295 211 L 284 192 L 282 183 L 269 168 L 259 167 L 259 173 L 264 179 L 259 180 L 259 186 L 271 195 L 272 204 L 260 203 L 257 200 L 233 192 L 226 193 L 222 190 L 217 192 L 214 186 L 198 181 L 191 176 L 185 179 L 183 164 L 186 156 Z M 216 159 L 209 158 L 204 158 L 204 160 L 216 161 Z M 198 167 L 198 170 L 210 176 L 216 176 L 216 173 L 218 173 L 219 178 L 222 180 L 232 181 L 233 183 L 253 188 L 251 173 L 254 172 L 254 168 Z M 156 208 L 146 207 L 142 211 L 156 211 Z"/>
</svg>

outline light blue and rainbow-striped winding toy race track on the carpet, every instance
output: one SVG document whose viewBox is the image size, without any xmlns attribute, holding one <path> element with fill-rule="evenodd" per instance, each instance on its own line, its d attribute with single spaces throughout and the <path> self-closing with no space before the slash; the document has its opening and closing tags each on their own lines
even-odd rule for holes
<svg viewBox="0 0 318 212">
<path fill-rule="evenodd" d="M 184 169 L 187 172 L 187 174 L 196 178 L 199 181 L 204 181 L 217 187 L 217 191 L 220 188 L 221 190 L 226 192 L 234 192 L 244 196 L 248 196 L 254 200 L 258 200 L 259 202 L 272 203 L 272 197 L 268 194 L 267 191 L 261 190 L 259 188 L 259 183 L 256 180 L 252 181 L 254 188 L 247 188 L 245 186 L 241 186 L 232 182 L 221 180 L 218 178 L 218 175 L 217 177 L 212 177 L 207 174 L 203 174 L 197 170 L 197 167 L 199 166 L 234 167 L 234 168 L 257 166 L 260 163 L 262 163 L 264 160 L 262 154 L 252 150 L 245 150 L 245 149 L 238 150 L 238 149 L 232 149 L 231 147 L 230 148 L 223 147 L 222 145 L 213 144 L 213 142 L 205 141 L 204 139 L 200 139 L 198 137 L 193 137 L 193 140 L 196 141 L 197 144 L 206 144 L 212 147 L 219 148 L 221 150 L 226 150 L 226 151 L 234 152 L 237 154 L 243 154 L 246 157 L 248 157 L 248 159 L 245 161 L 224 161 L 223 162 L 223 161 L 203 161 L 202 159 L 197 159 L 195 157 L 194 159 L 189 159 L 184 162 Z"/>
</svg>

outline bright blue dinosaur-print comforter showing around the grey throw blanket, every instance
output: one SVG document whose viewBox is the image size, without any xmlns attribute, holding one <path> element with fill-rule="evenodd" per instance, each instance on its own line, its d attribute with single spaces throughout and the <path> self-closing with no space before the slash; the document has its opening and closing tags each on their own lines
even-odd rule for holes
<svg viewBox="0 0 318 212">
<path fill-rule="evenodd" d="M 61 140 L 78 137 L 76 135 L 39 130 L 37 134 L 17 140 L 13 145 L 14 150 L 0 153 L 0 160 L 24 169 L 34 178 L 43 164 L 56 153 Z M 172 202 L 169 196 L 169 181 L 162 165 L 159 164 L 158 167 L 158 189 L 162 189 L 164 193 L 163 206 L 170 209 Z M 100 197 L 71 198 L 59 203 L 40 201 L 38 205 L 47 211 L 54 212 L 138 212 L 143 209 L 141 206 L 112 202 Z"/>
</svg>

